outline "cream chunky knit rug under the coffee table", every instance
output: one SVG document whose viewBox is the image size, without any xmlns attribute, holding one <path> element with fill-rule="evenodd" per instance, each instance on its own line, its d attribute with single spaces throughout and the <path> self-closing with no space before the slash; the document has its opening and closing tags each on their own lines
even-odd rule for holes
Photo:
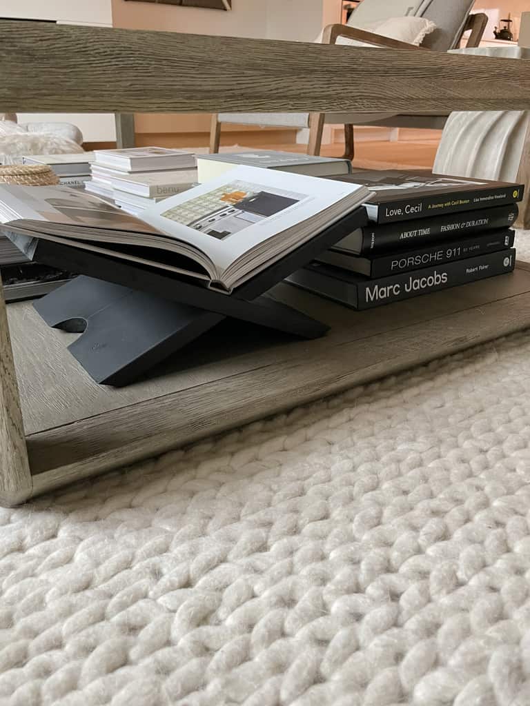
<svg viewBox="0 0 530 706">
<path fill-rule="evenodd" d="M 527 332 L 1 510 L 0 704 L 527 706 L 529 522 Z"/>
</svg>

